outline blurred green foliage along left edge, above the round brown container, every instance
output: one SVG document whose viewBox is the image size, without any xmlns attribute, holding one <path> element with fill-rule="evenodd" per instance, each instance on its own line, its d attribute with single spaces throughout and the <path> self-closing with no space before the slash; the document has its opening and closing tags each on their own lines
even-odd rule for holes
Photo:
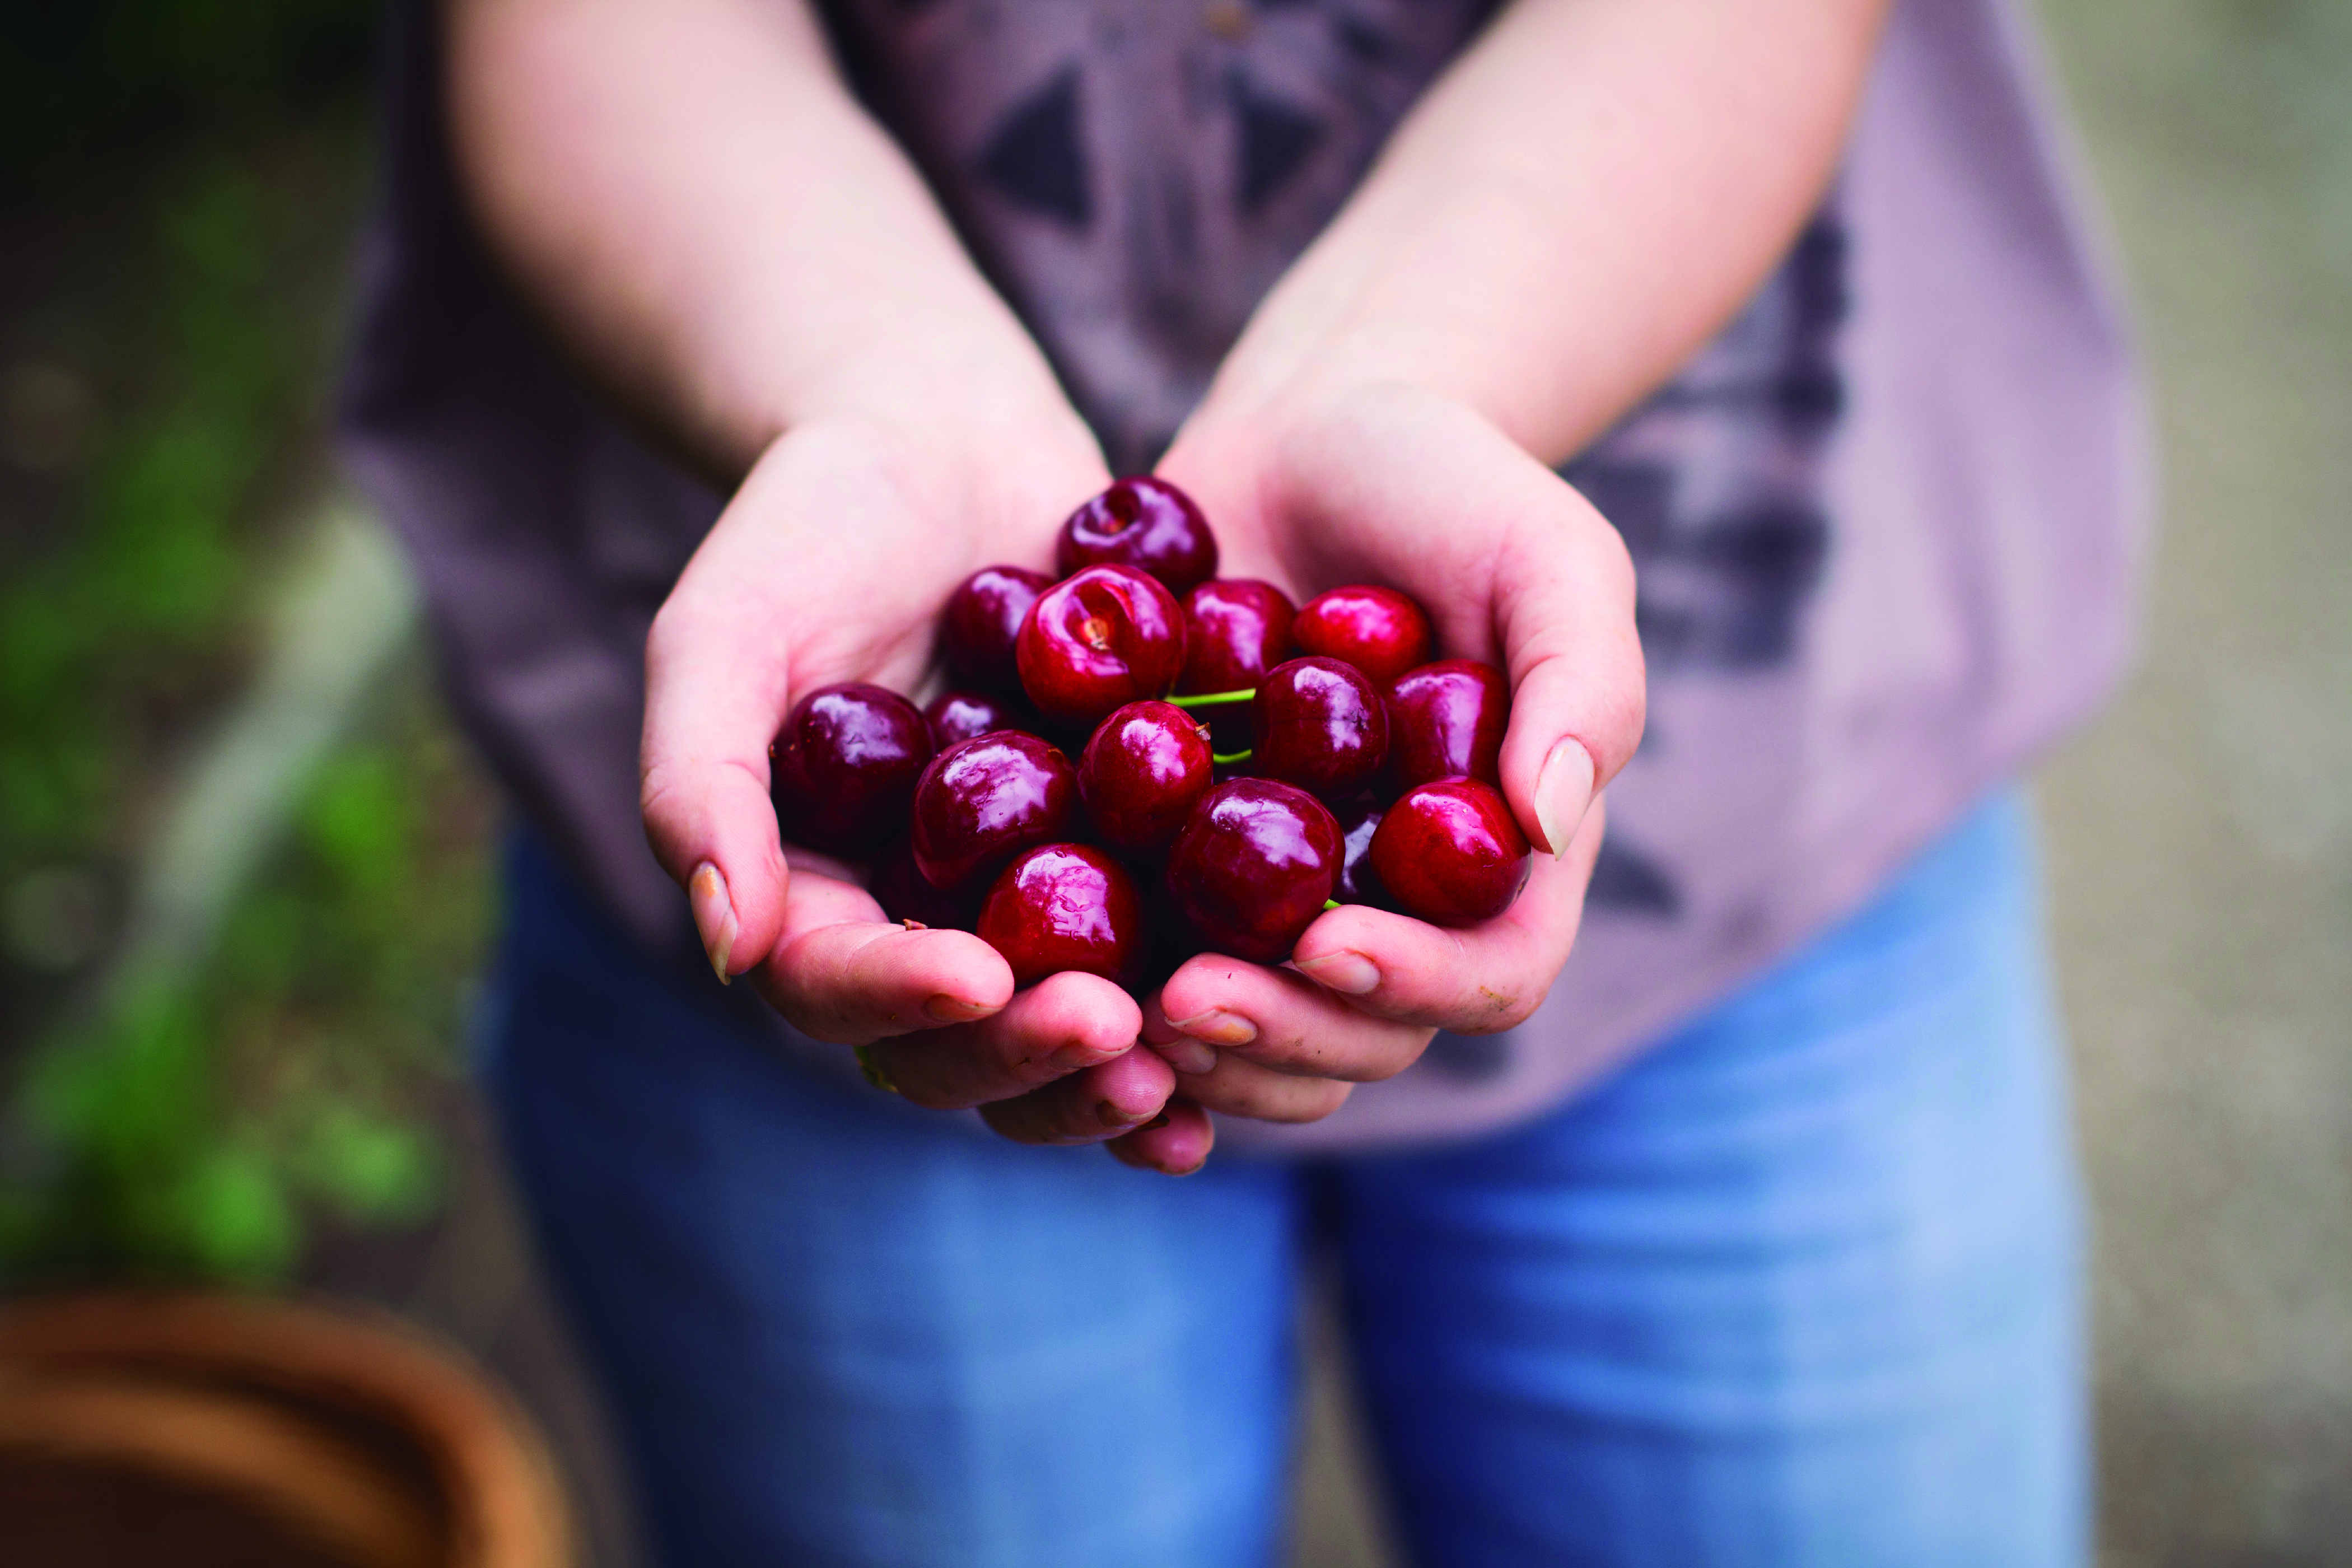
<svg viewBox="0 0 2352 1568">
<path fill-rule="evenodd" d="M 320 1225 L 442 1197 L 489 804 L 421 661 L 308 783 L 198 973 L 103 997 L 118 929 L 26 940 L 49 886 L 108 889 L 120 926 L 329 484 L 369 12 L 0 9 L 0 186 L 33 190 L 0 207 L 0 270 L 49 256 L 0 294 L 0 376 L 89 404 L 54 463 L 0 470 L 7 1279 L 266 1281 Z"/>
</svg>

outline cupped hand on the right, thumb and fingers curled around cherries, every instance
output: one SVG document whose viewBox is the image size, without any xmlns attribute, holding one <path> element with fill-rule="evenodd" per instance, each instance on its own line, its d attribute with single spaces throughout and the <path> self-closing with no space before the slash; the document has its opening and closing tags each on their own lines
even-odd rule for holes
<svg viewBox="0 0 2352 1568">
<path fill-rule="evenodd" d="M 1402 588 L 1439 656 L 1505 670 L 1503 795 L 1538 849 L 1519 900 L 1472 929 L 1350 905 L 1279 969 L 1202 954 L 1143 1009 L 1176 1093 L 1240 1117 L 1312 1121 L 1352 1084 L 1395 1077 L 1437 1030 L 1522 1023 L 1576 940 L 1599 853 L 1599 790 L 1642 738 L 1632 562 L 1592 505 L 1472 409 L 1369 388 L 1195 418 L 1160 473 L 1192 491 L 1223 576 L 1294 597 Z M 1160 1164 L 1169 1128 L 1115 1152 Z"/>
</svg>

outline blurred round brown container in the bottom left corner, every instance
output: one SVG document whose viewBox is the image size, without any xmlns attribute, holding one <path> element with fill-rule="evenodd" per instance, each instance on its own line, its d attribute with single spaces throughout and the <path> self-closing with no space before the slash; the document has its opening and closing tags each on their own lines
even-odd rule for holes
<svg viewBox="0 0 2352 1568">
<path fill-rule="evenodd" d="M 0 1309 L 9 1568 L 572 1568 L 532 1425 L 402 1324 L 261 1298 Z"/>
</svg>

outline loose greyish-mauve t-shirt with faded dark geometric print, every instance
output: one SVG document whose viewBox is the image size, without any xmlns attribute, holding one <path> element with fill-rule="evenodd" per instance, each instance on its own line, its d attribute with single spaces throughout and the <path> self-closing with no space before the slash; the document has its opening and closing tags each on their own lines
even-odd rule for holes
<svg viewBox="0 0 2352 1568">
<path fill-rule="evenodd" d="M 1486 9 L 828 16 L 1131 470 Z M 501 780 L 640 940 L 691 952 L 644 849 L 635 748 L 647 625 L 720 496 L 604 414 L 489 266 L 449 172 L 428 5 L 395 28 L 388 87 L 346 454 L 416 552 Z M 1317 1126 L 1230 1138 L 1362 1145 L 1557 1103 L 1858 907 L 2110 691 L 2140 400 L 2039 96 L 2002 0 L 1900 0 L 1830 202 L 1738 322 L 1564 468 L 1639 567 L 1651 726 L 1550 1001 L 1503 1037 L 1439 1037 Z"/>
</svg>

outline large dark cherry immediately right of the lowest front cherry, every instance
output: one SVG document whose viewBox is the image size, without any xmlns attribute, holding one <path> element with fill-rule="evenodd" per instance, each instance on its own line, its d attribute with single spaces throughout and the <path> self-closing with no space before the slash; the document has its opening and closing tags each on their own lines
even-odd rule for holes
<svg viewBox="0 0 2352 1568">
<path fill-rule="evenodd" d="M 1275 778 L 1209 790 L 1169 851 L 1176 912 L 1216 952 L 1277 964 L 1338 886 L 1341 839 L 1331 811 Z"/>
</svg>

